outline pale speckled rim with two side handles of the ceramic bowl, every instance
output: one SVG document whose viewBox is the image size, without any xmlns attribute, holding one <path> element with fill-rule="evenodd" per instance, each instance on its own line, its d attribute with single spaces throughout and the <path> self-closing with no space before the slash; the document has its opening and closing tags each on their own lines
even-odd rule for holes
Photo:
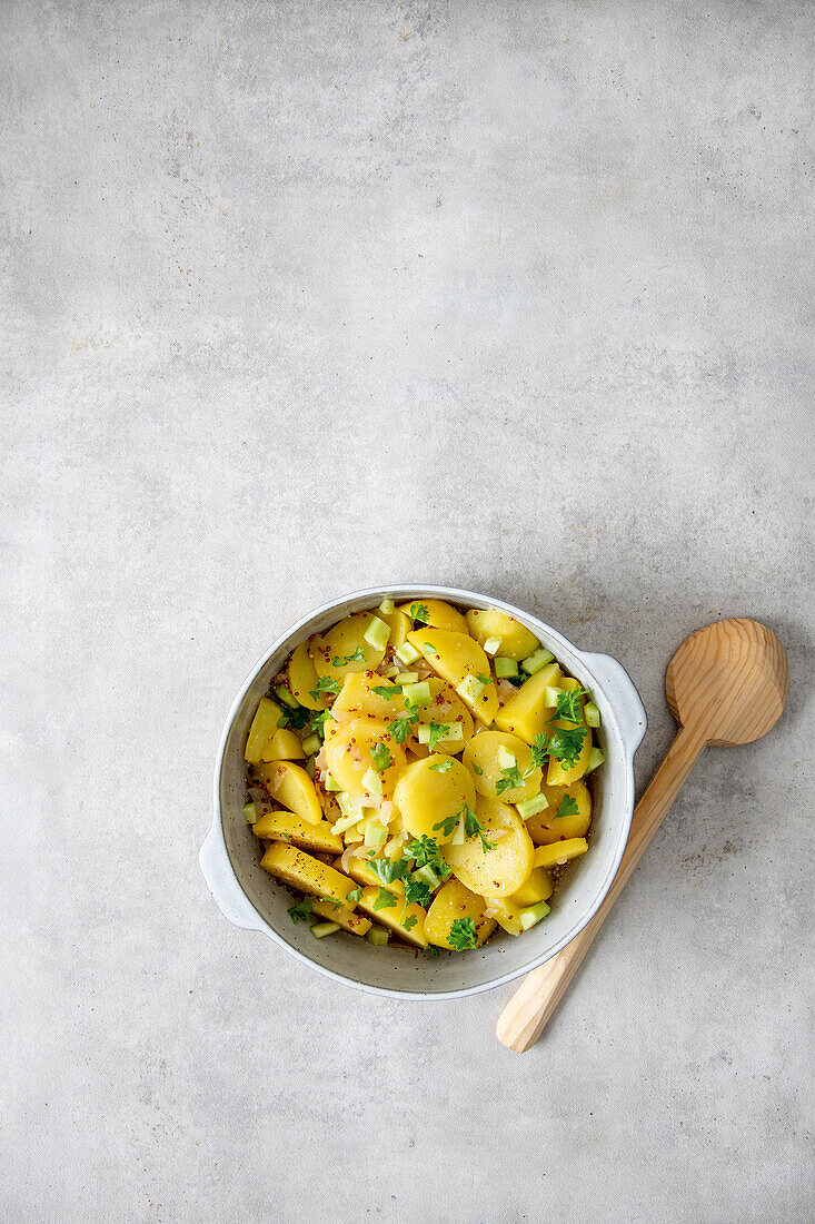
<svg viewBox="0 0 815 1224">
<path fill-rule="evenodd" d="M 529 961 L 523 966 L 510 969 L 509 972 L 499 973 L 496 978 L 487 982 L 480 982 L 474 985 L 461 987 L 454 990 L 442 990 L 442 991 L 422 991 L 422 990 L 403 990 L 390 987 L 379 987 L 370 982 L 360 982 L 354 977 L 340 973 L 326 965 L 319 965 L 317 961 L 312 960 L 310 956 L 305 955 L 300 949 L 292 946 L 281 934 L 275 930 L 266 918 L 259 913 L 253 902 L 247 896 L 246 891 L 242 889 L 239 875 L 234 868 L 229 849 L 226 847 L 224 837 L 224 813 L 221 808 L 221 778 L 224 772 L 224 763 L 228 748 L 229 736 L 234 722 L 239 717 L 244 699 L 247 692 L 255 683 L 258 673 L 268 663 L 268 661 L 289 643 L 291 644 L 289 649 L 294 649 L 294 645 L 302 640 L 303 636 L 308 636 L 310 627 L 327 613 L 344 608 L 349 603 L 360 603 L 366 601 L 371 607 L 377 606 L 383 599 L 395 599 L 396 601 L 406 601 L 421 597 L 428 599 L 442 599 L 447 600 L 454 605 L 465 607 L 491 607 L 502 612 L 507 612 L 509 616 L 518 618 L 521 624 L 529 625 L 540 640 L 547 646 L 547 649 L 553 650 L 556 657 L 563 662 L 567 668 L 573 671 L 573 661 L 576 660 L 579 663 L 578 671 L 582 671 L 587 674 L 590 679 L 590 687 L 595 693 L 595 696 L 600 693 L 605 698 L 605 704 L 607 712 L 605 715 L 605 725 L 608 721 L 608 712 L 611 711 L 612 717 L 616 722 L 614 731 L 618 736 L 619 743 L 623 748 L 623 767 L 625 771 L 624 777 L 624 799 L 619 804 L 619 826 L 617 830 L 617 846 L 606 875 L 603 878 L 602 885 L 596 890 L 592 901 L 589 906 L 580 909 L 579 917 L 568 929 L 567 934 L 558 939 L 551 947 L 546 949 L 543 953 L 530 956 Z M 343 613 L 345 614 L 345 613 Z M 335 982 L 340 982 L 344 985 L 354 987 L 357 990 L 363 990 L 370 994 L 384 995 L 387 998 L 404 999 L 404 1000 L 416 1000 L 416 1001 L 447 1001 L 453 999 L 461 999 L 466 995 L 480 994 L 485 990 L 493 990 L 497 987 L 505 985 L 509 982 L 523 977 L 531 969 L 537 968 L 537 966 L 543 965 L 546 961 L 556 956 L 563 947 L 569 944 L 575 935 L 578 935 L 584 927 L 591 922 L 592 917 L 602 905 L 612 881 L 619 868 L 625 846 L 628 842 L 628 835 L 631 825 L 631 815 L 634 812 L 634 753 L 639 748 L 646 730 L 646 715 L 642 703 L 640 700 L 639 693 L 634 687 L 633 681 L 623 668 L 623 666 L 613 659 L 611 655 L 591 654 L 579 650 L 568 638 L 564 638 L 557 629 L 548 625 L 546 622 L 541 621 L 540 617 L 534 616 L 530 612 L 524 611 L 512 603 L 507 603 L 504 600 L 494 599 L 493 596 L 485 595 L 478 591 L 467 591 L 459 588 L 452 586 L 438 586 L 427 583 L 411 583 L 411 584 L 390 584 L 376 588 L 367 588 L 360 591 L 351 591 L 338 596 L 334 600 L 329 600 L 327 603 L 313 608 L 306 616 L 301 617 L 295 624 L 290 625 L 285 633 L 280 634 L 272 646 L 261 656 L 255 667 L 244 681 L 240 687 L 235 700 L 231 704 L 229 715 L 224 723 L 224 730 L 221 732 L 220 743 L 218 747 L 218 753 L 215 756 L 215 770 L 213 778 L 213 823 L 212 827 L 201 847 L 199 863 L 209 886 L 209 891 L 213 895 L 215 903 L 219 909 L 230 922 L 235 925 L 241 927 L 246 930 L 257 930 L 268 935 L 277 944 L 280 945 L 286 952 L 295 956 L 303 965 L 310 968 L 316 969 L 324 977 L 332 978 Z M 523 938 L 523 936 L 521 936 Z M 485 945 L 485 950 L 488 945 Z"/>
</svg>

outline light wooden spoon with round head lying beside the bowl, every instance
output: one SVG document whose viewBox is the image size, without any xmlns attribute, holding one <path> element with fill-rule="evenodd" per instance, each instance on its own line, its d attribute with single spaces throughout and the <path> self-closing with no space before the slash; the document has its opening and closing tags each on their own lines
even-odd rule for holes
<svg viewBox="0 0 815 1224">
<path fill-rule="evenodd" d="M 702 748 L 750 744 L 775 727 L 789 688 L 787 656 L 775 633 L 757 621 L 720 621 L 683 641 L 668 663 L 664 688 L 679 731 L 634 808 L 614 883 L 591 922 L 527 974 L 498 1017 L 498 1039 L 519 1054 L 541 1036 Z"/>
</svg>

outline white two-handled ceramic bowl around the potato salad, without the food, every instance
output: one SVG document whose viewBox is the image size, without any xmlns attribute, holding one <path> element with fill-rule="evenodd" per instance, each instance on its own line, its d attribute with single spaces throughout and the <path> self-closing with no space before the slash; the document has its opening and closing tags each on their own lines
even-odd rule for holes
<svg viewBox="0 0 815 1224">
<path fill-rule="evenodd" d="M 280 884 L 261 869 L 259 847 L 244 821 L 244 744 L 257 703 L 294 647 L 349 612 L 438 597 L 464 608 L 499 608 L 525 624 L 567 671 L 591 689 L 602 715 L 597 734 L 606 764 L 597 775 L 589 853 L 578 859 L 557 889 L 552 913 L 516 939 L 501 930 L 477 951 L 434 958 L 394 944 L 374 947 L 344 931 L 316 940 L 307 923 L 292 923 L 292 903 Z M 619 867 L 634 810 L 633 759 L 645 734 L 645 710 L 620 663 L 587 655 L 537 617 L 501 600 L 447 586 L 382 586 L 326 603 L 274 643 L 252 670 L 229 711 L 215 761 L 214 820 L 201 848 L 201 868 L 213 897 L 236 927 L 258 930 L 305 965 L 346 985 L 400 999 L 455 999 L 489 990 L 520 977 L 559 952 L 590 920 Z"/>
</svg>

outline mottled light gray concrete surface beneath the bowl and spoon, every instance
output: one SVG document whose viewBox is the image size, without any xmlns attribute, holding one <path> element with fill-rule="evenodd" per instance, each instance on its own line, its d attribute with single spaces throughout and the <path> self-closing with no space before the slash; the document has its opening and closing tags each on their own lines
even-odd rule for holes
<svg viewBox="0 0 815 1224">
<path fill-rule="evenodd" d="M 813 6 L 2 5 L 9 1222 L 813 1218 Z M 368 583 L 617 655 L 711 750 L 545 1039 L 360 998 L 197 865 L 233 694 Z"/>
</svg>

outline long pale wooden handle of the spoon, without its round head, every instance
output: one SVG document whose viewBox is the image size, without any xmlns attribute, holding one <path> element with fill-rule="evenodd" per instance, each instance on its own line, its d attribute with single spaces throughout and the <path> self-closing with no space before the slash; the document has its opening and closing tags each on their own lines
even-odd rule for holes
<svg viewBox="0 0 815 1224">
<path fill-rule="evenodd" d="M 705 747 L 706 736 L 699 727 L 680 727 L 651 785 L 634 808 L 628 846 L 614 883 L 600 909 L 580 934 L 567 946 L 532 969 L 498 1017 L 498 1040 L 510 1050 L 524 1054 L 535 1045 L 549 1016 L 565 994 L 578 966 L 602 927 L 611 907 L 623 891 L 629 875 L 642 857 L 671 804 L 679 794 L 688 775 Z"/>
</svg>

